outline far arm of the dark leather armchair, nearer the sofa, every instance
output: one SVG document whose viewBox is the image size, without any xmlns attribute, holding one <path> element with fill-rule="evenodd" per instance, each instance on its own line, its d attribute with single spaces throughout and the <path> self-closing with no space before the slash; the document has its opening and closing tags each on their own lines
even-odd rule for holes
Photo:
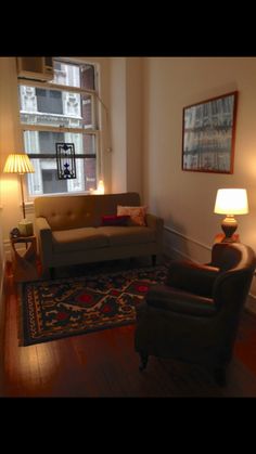
<svg viewBox="0 0 256 454">
<path fill-rule="evenodd" d="M 169 267 L 166 284 L 181 290 L 212 298 L 214 284 L 219 273 L 220 271 L 217 267 L 196 264 L 189 260 L 174 260 Z"/>
</svg>

